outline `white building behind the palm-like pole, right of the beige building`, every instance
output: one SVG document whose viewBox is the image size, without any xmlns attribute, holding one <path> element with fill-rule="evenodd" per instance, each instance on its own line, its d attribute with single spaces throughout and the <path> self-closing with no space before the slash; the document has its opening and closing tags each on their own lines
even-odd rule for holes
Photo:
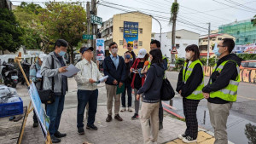
<svg viewBox="0 0 256 144">
<path fill-rule="evenodd" d="M 177 49 L 177 57 L 185 58 L 186 52 L 185 49 L 190 44 L 198 45 L 199 33 L 190 32 L 188 30 L 177 30 L 176 38 L 175 38 L 175 46 Z M 160 41 L 160 33 L 152 33 L 152 39 L 156 39 Z M 164 32 L 162 33 L 161 38 L 161 50 L 163 55 L 168 58 L 171 58 L 171 50 L 172 50 L 172 32 Z"/>
</svg>

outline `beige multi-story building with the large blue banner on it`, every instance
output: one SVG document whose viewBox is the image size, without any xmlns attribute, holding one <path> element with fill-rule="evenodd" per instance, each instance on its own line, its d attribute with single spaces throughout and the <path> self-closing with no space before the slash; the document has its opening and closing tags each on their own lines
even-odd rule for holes
<svg viewBox="0 0 256 144">
<path fill-rule="evenodd" d="M 133 49 L 137 55 L 139 49 L 147 49 L 149 52 L 150 41 L 151 41 L 151 31 L 152 31 L 152 17 L 148 14 L 143 14 L 140 12 L 130 12 L 124 14 L 114 14 L 113 18 L 102 23 L 100 32 L 102 38 L 105 39 L 105 51 L 108 55 L 108 44 L 116 42 L 119 45 L 118 55 L 124 55 L 126 49 L 126 44 L 124 41 L 124 23 L 125 21 L 137 23 L 137 44 L 133 42 Z M 135 46 L 137 45 L 137 46 Z"/>
</svg>

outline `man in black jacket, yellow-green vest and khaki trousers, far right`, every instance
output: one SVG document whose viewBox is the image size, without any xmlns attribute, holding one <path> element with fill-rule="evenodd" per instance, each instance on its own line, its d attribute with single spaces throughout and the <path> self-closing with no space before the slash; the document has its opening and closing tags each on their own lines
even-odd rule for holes
<svg viewBox="0 0 256 144">
<path fill-rule="evenodd" d="M 207 107 L 214 130 L 214 144 L 227 144 L 227 119 L 233 102 L 236 101 L 237 87 L 240 82 L 239 66 L 241 58 L 230 54 L 235 43 L 231 38 L 224 38 L 214 49 L 219 60 L 214 66 L 212 76 L 202 91 L 208 100 Z"/>
</svg>

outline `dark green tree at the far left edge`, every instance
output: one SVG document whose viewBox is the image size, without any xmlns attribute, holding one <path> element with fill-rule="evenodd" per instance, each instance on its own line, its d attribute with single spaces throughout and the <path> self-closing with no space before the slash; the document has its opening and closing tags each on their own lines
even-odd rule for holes
<svg viewBox="0 0 256 144">
<path fill-rule="evenodd" d="M 0 50 L 16 52 L 22 44 L 22 29 L 15 14 L 9 9 L 0 9 Z"/>
</svg>

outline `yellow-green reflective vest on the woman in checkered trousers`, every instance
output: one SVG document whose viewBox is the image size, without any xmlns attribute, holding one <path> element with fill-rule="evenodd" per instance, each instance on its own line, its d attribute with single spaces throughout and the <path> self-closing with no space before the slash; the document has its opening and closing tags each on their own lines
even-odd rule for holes
<svg viewBox="0 0 256 144">
<path fill-rule="evenodd" d="M 191 73 L 193 72 L 193 69 L 194 69 L 196 64 L 200 64 L 201 65 L 202 72 L 203 72 L 203 78 L 202 78 L 201 84 L 192 92 L 191 95 L 186 97 L 186 99 L 190 99 L 190 100 L 201 100 L 201 99 L 204 98 L 204 96 L 202 95 L 202 89 L 204 88 L 204 70 L 203 70 L 203 65 L 201 64 L 200 60 L 193 61 L 188 66 L 187 71 L 186 71 L 186 68 L 187 68 L 188 62 L 185 62 L 184 66 L 183 66 L 183 83 L 186 84 L 186 82 L 189 79 Z"/>
</svg>

